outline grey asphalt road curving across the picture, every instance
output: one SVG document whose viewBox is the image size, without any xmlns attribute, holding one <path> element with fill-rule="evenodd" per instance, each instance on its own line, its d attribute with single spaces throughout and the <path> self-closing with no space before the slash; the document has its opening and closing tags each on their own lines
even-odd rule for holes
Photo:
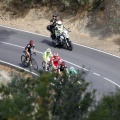
<svg viewBox="0 0 120 120">
<path fill-rule="evenodd" d="M 0 27 L 0 60 L 21 66 L 21 55 L 29 40 L 35 41 L 37 55 L 35 59 L 42 68 L 42 52 L 48 47 L 52 52 L 58 52 L 66 61 L 68 68 L 74 66 L 87 70 L 86 81 L 92 82 L 92 88 L 97 89 L 97 98 L 102 94 L 114 92 L 120 87 L 120 58 L 103 52 L 89 49 L 80 45 L 73 45 L 73 51 L 54 48 L 49 37 L 27 33 L 6 27 Z"/>
</svg>

